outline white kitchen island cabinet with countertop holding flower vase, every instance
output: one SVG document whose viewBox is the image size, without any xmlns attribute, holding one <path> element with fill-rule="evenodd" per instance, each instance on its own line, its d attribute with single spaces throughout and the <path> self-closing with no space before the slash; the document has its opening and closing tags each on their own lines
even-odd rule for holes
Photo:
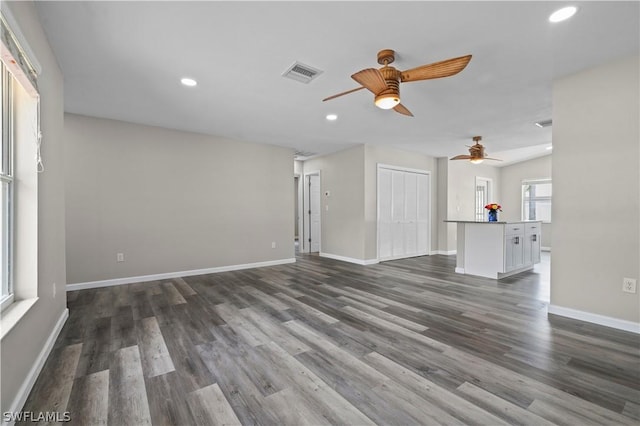
<svg viewBox="0 0 640 426">
<path fill-rule="evenodd" d="M 458 224 L 456 272 L 500 279 L 540 262 L 541 222 L 472 222 Z"/>
</svg>

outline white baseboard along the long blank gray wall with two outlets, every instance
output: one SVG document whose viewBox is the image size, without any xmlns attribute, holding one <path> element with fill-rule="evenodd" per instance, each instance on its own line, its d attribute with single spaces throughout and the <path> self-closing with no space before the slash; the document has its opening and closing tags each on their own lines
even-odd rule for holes
<svg viewBox="0 0 640 426">
<path fill-rule="evenodd" d="M 171 278 L 189 277 L 193 275 L 215 274 L 218 272 L 239 271 L 241 269 L 262 268 L 265 266 L 284 265 L 295 263 L 295 258 L 268 260 L 266 262 L 245 263 L 241 265 L 217 266 L 206 269 L 193 269 L 190 271 L 167 272 L 164 274 L 140 275 L 137 277 L 115 278 L 112 280 L 89 281 L 85 283 L 67 284 L 67 291 L 84 290 L 87 288 L 110 287 L 114 285 L 141 283 L 146 281 L 166 280 Z"/>
</svg>

